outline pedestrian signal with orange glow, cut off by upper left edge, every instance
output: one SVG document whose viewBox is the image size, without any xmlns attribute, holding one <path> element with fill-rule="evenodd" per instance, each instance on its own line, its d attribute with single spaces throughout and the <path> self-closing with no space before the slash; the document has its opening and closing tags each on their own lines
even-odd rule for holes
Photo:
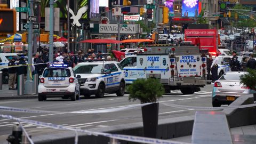
<svg viewBox="0 0 256 144">
<path fill-rule="evenodd" d="M 15 34 L 16 27 L 16 11 L 0 9 L 0 34 Z"/>
</svg>

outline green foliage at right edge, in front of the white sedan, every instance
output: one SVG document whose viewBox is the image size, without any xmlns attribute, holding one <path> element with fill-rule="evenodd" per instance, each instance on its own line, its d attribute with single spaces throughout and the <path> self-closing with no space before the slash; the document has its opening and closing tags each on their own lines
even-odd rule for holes
<svg viewBox="0 0 256 144">
<path fill-rule="evenodd" d="M 240 77 L 241 83 L 249 86 L 252 90 L 256 90 L 256 70 L 247 69 L 248 74 Z"/>
</svg>

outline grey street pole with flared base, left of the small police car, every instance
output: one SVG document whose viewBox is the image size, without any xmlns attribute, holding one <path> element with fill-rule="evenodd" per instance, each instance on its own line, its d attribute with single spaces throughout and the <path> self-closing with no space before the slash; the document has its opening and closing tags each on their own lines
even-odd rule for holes
<svg viewBox="0 0 256 144">
<path fill-rule="evenodd" d="M 28 1 L 29 5 L 29 17 L 34 16 L 33 14 L 33 0 Z M 29 20 L 28 22 L 28 67 L 27 67 L 27 80 L 25 84 L 25 94 L 35 94 L 35 89 L 32 87 L 35 87 L 34 81 L 32 81 L 32 78 L 30 75 L 32 74 L 32 53 L 33 53 L 33 21 Z"/>
</svg>

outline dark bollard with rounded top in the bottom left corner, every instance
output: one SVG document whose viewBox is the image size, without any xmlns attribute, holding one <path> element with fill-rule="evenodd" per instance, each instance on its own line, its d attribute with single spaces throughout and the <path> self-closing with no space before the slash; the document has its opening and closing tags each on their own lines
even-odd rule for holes
<svg viewBox="0 0 256 144">
<path fill-rule="evenodd" d="M 22 130 L 21 127 L 17 124 L 12 128 L 12 134 L 6 139 L 11 144 L 19 144 L 21 142 Z"/>
</svg>

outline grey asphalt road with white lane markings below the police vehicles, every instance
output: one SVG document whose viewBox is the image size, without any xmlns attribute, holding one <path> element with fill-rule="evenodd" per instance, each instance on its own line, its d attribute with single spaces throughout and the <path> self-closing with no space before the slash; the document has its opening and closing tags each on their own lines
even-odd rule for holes
<svg viewBox="0 0 256 144">
<path fill-rule="evenodd" d="M 180 91 L 171 91 L 170 94 L 163 95 L 159 99 L 159 119 L 194 115 L 193 109 L 179 109 L 163 105 L 162 103 L 175 103 L 186 106 L 212 107 L 211 94 L 213 85 L 206 85 L 201 88 L 200 92 L 195 94 L 183 95 Z M 115 94 L 107 94 L 105 98 L 96 99 L 83 98 L 77 101 L 62 100 L 61 98 L 47 98 L 47 101 L 39 102 L 37 99 L 25 100 L 2 100 L 0 106 L 27 108 L 36 110 L 60 111 L 57 114 L 30 114 L 30 113 L 13 113 L 9 111 L 0 111 L 0 114 L 12 115 L 18 118 L 26 118 L 45 123 L 58 124 L 65 127 L 78 129 L 92 129 L 95 127 L 107 127 L 118 124 L 127 124 L 142 122 L 141 108 L 132 110 L 117 111 L 113 113 L 100 114 L 70 114 L 67 112 L 107 109 L 114 107 L 129 106 L 139 103 L 139 101 L 130 102 L 129 94 L 124 97 L 116 97 Z M 7 135 L 11 134 L 12 127 L 17 122 L 11 119 L 0 118 L 0 141 L 5 140 Z M 50 128 L 23 123 L 27 132 L 35 137 L 36 135 L 49 134 L 53 132 Z"/>
</svg>

